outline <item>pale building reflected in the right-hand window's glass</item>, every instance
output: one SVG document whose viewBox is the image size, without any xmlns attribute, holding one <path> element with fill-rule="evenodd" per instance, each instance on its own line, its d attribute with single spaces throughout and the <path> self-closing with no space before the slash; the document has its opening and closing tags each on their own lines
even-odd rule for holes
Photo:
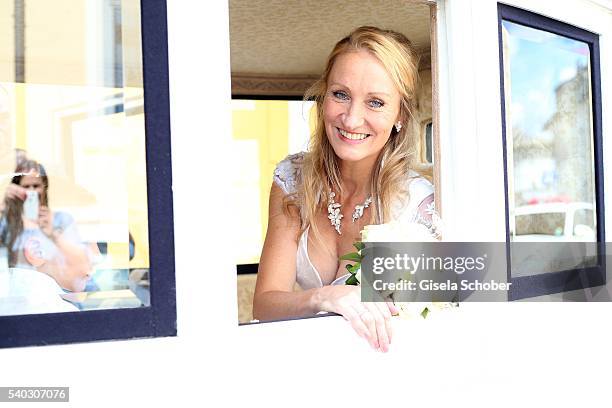
<svg viewBox="0 0 612 408">
<path fill-rule="evenodd" d="M 537 136 L 512 128 L 516 205 L 541 201 L 592 202 L 593 169 L 589 71 L 554 89 L 555 112 Z M 540 177 L 534 177 L 539 175 Z"/>
</svg>

